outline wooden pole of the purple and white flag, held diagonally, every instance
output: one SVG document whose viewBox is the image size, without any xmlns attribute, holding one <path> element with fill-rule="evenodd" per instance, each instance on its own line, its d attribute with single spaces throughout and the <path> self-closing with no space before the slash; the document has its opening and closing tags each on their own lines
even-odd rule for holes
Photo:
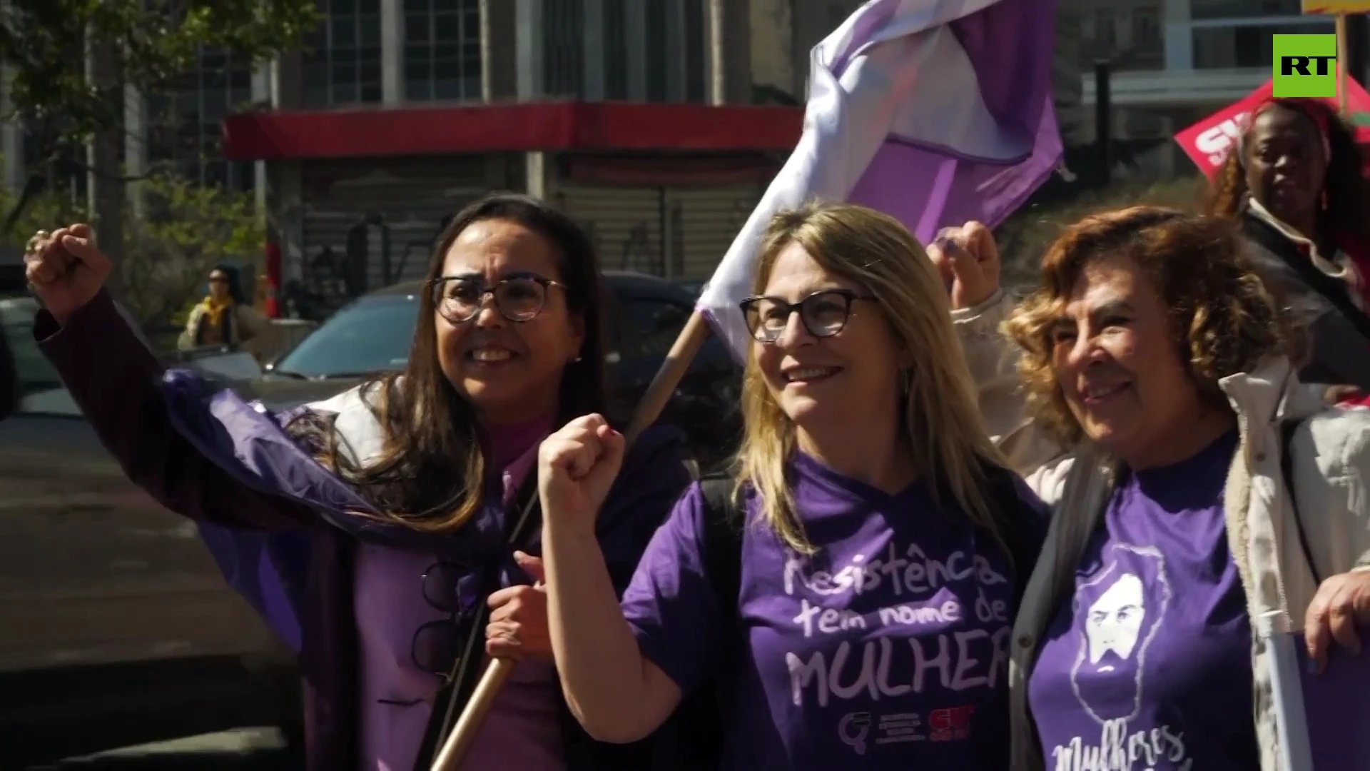
<svg viewBox="0 0 1370 771">
<path fill-rule="evenodd" d="M 630 446 L 643 435 L 643 431 L 648 425 L 656 423 L 656 418 L 660 417 L 662 410 L 666 409 L 666 402 L 671 399 L 671 394 L 675 392 L 675 387 L 680 386 L 685 370 L 689 369 L 690 361 L 699 353 L 700 346 L 704 344 L 704 340 L 708 340 L 710 333 L 711 331 L 704 314 L 699 310 L 692 313 L 685 322 L 685 328 L 675 337 L 675 343 L 671 344 L 670 353 L 666 354 L 666 361 L 662 362 L 652 383 L 647 387 L 647 392 L 643 394 L 643 401 L 638 402 L 637 412 L 633 413 L 633 421 L 629 423 L 627 434 L 623 435 Z M 462 709 L 462 715 L 456 719 L 456 726 L 448 734 L 447 741 L 443 742 L 441 752 L 433 759 L 433 771 L 458 770 L 462 759 L 471 749 L 475 735 L 481 731 L 485 717 L 490 713 L 495 697 L 504 687 L 504 683 L 508 682 L 510 675 L 514 674 L 514 665 L 515 661 L 510 659 L 495 659 L 485 668 L 481 680 L 471 693 L 471 700 Z"/>
</svg>

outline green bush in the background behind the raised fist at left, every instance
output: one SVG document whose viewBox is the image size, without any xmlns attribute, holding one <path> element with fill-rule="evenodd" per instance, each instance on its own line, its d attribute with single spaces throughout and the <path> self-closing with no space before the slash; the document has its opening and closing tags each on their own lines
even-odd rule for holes
<svg viewBox="0 0 1370 771">
<path fill-rule="evenodd" d="M 130 189 L 142 195 L 145 214 L 125 211 L 125 257 L 119 262 L 119 299 L 144 327 L 174 322 L 199 299 L 210 269 L 233 259 L 256 261 L 266 232 L 252 193 L 200 185 L 174 176 L 156 176 Z M 12 207 L 0 189 L 0 210 Z M 42 193 L 21 215 L 0 248 L 22 250 L 34 230 L 89 222 L 84 202 Z"/>
</svg>

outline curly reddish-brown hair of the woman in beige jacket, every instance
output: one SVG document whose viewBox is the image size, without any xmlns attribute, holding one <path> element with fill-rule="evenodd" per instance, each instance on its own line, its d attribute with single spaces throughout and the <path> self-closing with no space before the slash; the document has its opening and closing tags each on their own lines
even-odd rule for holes
<svg viewBox="0 0 1370 771">
<path fill-rule="evenodd" d="M 1082 431 L 1056 380 L 1052 329 L 1085 269 L 1115 257 L 1133 261 L 1160 292 L 1177 353 L 1204 402 L 1226 406 L 1222 377 L 1266 357 L 1300 357 L 1299 333 L 1248 263 L 1230 220 L 1155 206 L 1091 214 L 1048 247 L 1041 287 L 1004 322 L 1023 348 L 1018 370 L 1034 416 L 1067 446 Z"/>
</svg>

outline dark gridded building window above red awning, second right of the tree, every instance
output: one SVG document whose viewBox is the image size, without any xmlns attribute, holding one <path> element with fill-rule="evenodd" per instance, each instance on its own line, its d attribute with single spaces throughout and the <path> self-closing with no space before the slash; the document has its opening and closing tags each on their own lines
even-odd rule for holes
<svg viewBox="0 0 1370 771">
<path fill-rule="evenodd" d="M 481 99 L 480 0 L 404 0 L 404 97 Z"/>
</svg>

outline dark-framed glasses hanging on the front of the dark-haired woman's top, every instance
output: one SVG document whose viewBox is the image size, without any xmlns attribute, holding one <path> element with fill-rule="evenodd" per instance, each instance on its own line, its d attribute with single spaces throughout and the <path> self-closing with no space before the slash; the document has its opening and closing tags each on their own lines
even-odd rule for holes
<svg viewBox="0 0 1370 771">
<path fill-rule="evenodd" d="M 410 659 L 414 665 L 429 675 L 436 675 L 447 685 L 452 679 L 458 661 L 466 653 L 463 646 L 475 630 L 470 630 L 475 609 L 481 604 L 480 575 L 456 562 L 433 562 L 423 571 L 421 591 L 430 608 L 447 613 L 422 624 L 410 639 Z M 480 650 L 484 650 L 481 648 Z M 412 707 L 423 700 L 389 700 L 384 704 Z"/>
</svg>

